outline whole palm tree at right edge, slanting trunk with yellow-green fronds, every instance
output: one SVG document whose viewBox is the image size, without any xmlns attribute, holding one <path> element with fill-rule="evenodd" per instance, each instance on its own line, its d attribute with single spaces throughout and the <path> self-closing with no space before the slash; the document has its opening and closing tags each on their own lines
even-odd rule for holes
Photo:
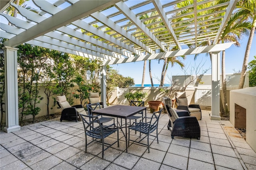
<svg viewBox="0 0 256 170">
<path fill-rule="evenodd" d="M 242 71 L 241 71 L 241 78 L 240 78 L 240 82 L 239 82 L 239 86 L 238 86 L 238 88 L 241 89 L 241 88 L 244 87 L 244 79 L 245 79 L 245 75 L 246 75 L 248 58 L 249 58 L 250 49 L 251 49 L 251 46 L 252 46 L 252 39 L 253 39 L 253 36 L 255 34 L 256 2 L 255 2 L 255 0 L 241 0 L 240 2 L 238 2 L 236 7 L 238 8 L 238 10 L 243 12 L 244 15 L 248 16 L 248 18 L 250 18 L 250 21 L 251 21 L 251 31 L 250 31 L 249 39 L 248 39 L 248 42 L 247 42 L 246 51 L 245 51 L 245 54 L 244 54 L 244 62 L 243 62 Z"/>
</svg>

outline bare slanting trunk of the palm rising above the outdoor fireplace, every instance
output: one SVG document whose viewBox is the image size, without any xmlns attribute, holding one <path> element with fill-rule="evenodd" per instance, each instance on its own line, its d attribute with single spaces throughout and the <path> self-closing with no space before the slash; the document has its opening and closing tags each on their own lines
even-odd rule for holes
<svg viewBox="0 0 256 170">
<path fill-rule="evenodd" d="M 256 22 L 256 20 L 254 20 L 254 22 Z M 246 69 L 247 69 L 248 59 L 249 59 L 249 55 L 250 55 L 250 49 L 251 49 L 251 46 L 252 46 L 252 39 L 253 39 L 253 36 L 254 36 L 254 31 L 255 31 L 255 26 L 254 25 L 255 25 L 255 23 L 252 26 L 252 29 L 251 29 L 251 32 L 250 32 L 250 35 L 249 35 L 249 39 L 248 39 L 248 43 L 247 43 L 247 46 L 246 46 L 246 51 L 245 51 L 245 54 L 244 54 L 244 63 L 243 63 L 243 66 L 242 66 L 241 78 L 240 78 L 238 89 L 241 89 L 241 88 L 244 87 L 244 79 L 245 79 L 245 75 L 246 75 Z"/>
</svg>

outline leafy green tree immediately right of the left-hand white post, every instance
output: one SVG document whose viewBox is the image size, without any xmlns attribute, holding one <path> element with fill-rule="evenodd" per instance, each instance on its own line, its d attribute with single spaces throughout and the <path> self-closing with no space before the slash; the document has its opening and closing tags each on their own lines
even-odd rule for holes
<svg viewBox="0 0 256 170">
<path fill-rule="evenodd" d="M 21 108 L 21 121 L 23 115 L 32 115 L 33 122 L 40 108 L 36 104 L 43 99 L 39 96 L 38 82 L 41 79 L 42 68 L 47 59 L 47 50 L 34 45 L 23 44 L 18 46 L 18 81 L 20 88 L 19 108 Z"/>
</svg>

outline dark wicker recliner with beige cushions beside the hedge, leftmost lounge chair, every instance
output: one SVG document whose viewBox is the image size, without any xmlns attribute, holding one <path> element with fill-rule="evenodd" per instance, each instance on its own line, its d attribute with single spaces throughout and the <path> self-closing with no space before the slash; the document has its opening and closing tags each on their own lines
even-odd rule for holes
<svg viewBox="0 0 256 170">
<path fill-rule="evenodd" d="M 82 105 L 74 105 L 71 107 L 65 95 L 57 96 L 56 101 L 58 106 L 62 109 L 60 121 L 62 120 L 78 121 L 78 118 L 79 118 L 78 113 L 86 114 L 86 111 L 84 110 L 84 107 Z"/>
</svg>

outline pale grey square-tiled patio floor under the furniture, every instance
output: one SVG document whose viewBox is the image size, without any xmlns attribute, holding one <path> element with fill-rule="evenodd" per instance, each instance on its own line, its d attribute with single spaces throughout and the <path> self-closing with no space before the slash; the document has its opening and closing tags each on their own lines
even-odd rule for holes
<svg viewBox="0 0 256 170">
<path fill-rule="evenodd" d="M 0 170 L 246 170 L 256 169 L 256 153 L 241 138 L 229 121 L 210 120 L 210 111 L 203 110 L 201 138 L 171 139 L 167 130 L 168 115 L 159 121 L 159 144 L 150 140 L 147 147 L 130 144 L 125 152 L 125 139 L 120 133 L 117 144 L 104 152 L 92 143 L 85 153 L 82 121 L 44 121 L 22 127 L 13 133 L 0 132 Z M 150 115 L 150 113 L 147 113 Z M 132 138 L 136 138 L 132 133 Z M 107 141 L 113 141 L 107 138 Z M 145 140 L 146 142 L 146 140 Z"/>
</svg>

